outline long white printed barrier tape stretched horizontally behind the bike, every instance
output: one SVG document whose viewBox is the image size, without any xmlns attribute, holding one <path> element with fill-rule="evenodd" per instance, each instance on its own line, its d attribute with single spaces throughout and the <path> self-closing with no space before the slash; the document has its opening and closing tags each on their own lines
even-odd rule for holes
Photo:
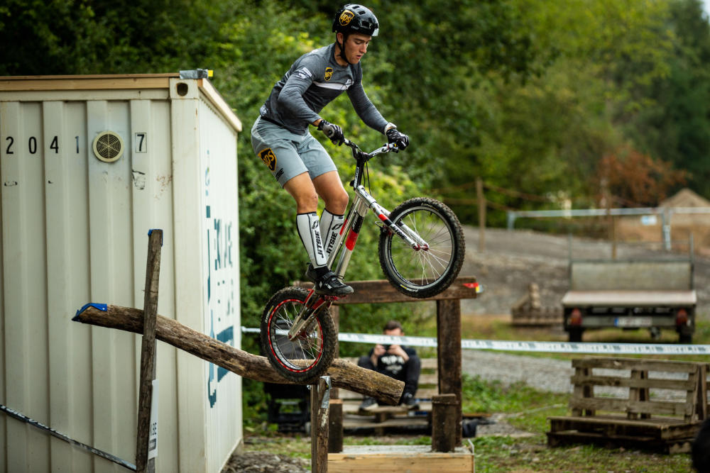
<svg viewBox="0 0 710 473">
<path fill-rule="evenodd" d="M 259 333 L 258 328 L 242 327 L 244 333 Z M 366 333 L 339 333 L 338 340 L 353 343 L 380 343 L 410 347 L 436 347 L 429 337 L 395 337 Z M 501 350 L 507 352 L 596 353 L 599 355 L 710 355 L 710 345 L 665 345 L 660 343 L 568 343 L 525 342 L 518 340 L 461 340 L 466 350 Z"/>
</svg>

